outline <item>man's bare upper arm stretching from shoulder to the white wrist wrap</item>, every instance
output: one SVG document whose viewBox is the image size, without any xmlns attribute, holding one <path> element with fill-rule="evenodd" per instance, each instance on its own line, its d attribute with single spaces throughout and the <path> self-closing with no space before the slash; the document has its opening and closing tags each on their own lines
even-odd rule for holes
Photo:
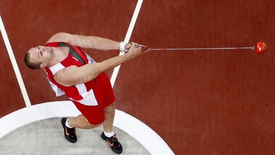
<svg viewBox="0 0 275 155">
<path fill-rule="evenodd" d="M 85 49 L 118 50 L 119 42 L 97 36 L 83 36 L 69 33 L 54 34 L 47 42 L 67 42 Z"/>
</svg>

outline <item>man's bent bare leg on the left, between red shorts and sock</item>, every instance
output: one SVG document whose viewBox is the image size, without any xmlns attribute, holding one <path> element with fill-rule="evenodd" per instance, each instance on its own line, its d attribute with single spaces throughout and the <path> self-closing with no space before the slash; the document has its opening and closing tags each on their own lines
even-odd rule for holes
<svg viewBox="0 0 275 155">
<path fill-rule="evenodd" d="M 77 117 L 70 117 L 68 119 L 68 125 L 70 125 L 71 127 L 76 127 L 76 128 L 80 128 L 80 129 L 93 129 L 94 127 L 99 127 L 101 125 L 101 123 L 97 124 L 97 125 L 92 125 L 81 114 L 81 115 L 78 115 Z"/>
</svg>

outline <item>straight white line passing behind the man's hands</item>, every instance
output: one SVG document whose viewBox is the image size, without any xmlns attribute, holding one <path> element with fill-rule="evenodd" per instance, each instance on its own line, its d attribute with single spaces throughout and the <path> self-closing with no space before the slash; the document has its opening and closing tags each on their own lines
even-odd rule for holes
<svg viewBox="0 0 275 155">
<path fill-rule="evenodd" d="M 134 28 L 134 26 L 135 26 L 135 22 L 136 22 L 136 20 L 137 20 L 138 13 L 140 12 L 140 8 L 141 8 L 141 5 L 142 5 L 142 2 L 143 2 L 143 0 L 138 0 L 138 1 L 137 1 L 137 5 L 136 5 L 136 7 L 135 7 L 135 11 L 134 11 L 132 20 L 131 20 L 131 22 L 130 22 L 128 31 L 127 31 L 127 33 L 126 33 L 124 42 L 129 42 L 129 40 L 130 40 L 130 37 L 131 37 L 132 32 L 133 32 L 133 28 Z M 124 53 L 119 52 L 119 55 L 123 55 L 123 54 L 124 54 Z M 110 81 L 111 81 L 112 87 L 113 87 L 114 84 L 115 84 L 115 79 L 117 78 L 117 74 L 118 74 L 119 68 L 120 68 L 120 65 L 118 65 L 117 67 L 114 68 L 114 71 L 113 71 L 113 74 L 112 74 L 112 77 L 111 77 L 111 80 L 110 80 Z"/>
</svg>

